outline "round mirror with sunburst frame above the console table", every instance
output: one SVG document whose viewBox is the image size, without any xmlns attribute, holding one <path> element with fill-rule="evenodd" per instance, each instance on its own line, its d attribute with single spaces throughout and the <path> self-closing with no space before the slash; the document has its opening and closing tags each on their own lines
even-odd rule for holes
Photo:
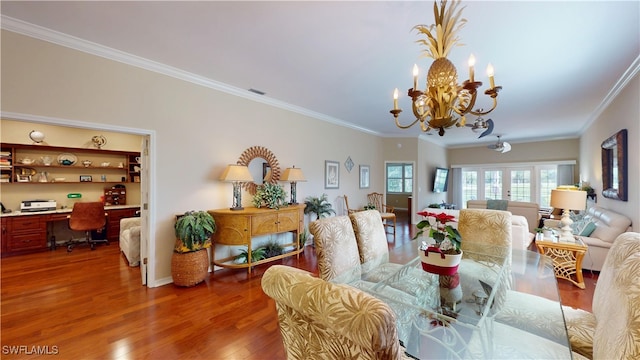
<svg viewBox="0 0 640 360">
<path fill-rule="evenodd" d="M 273 153 L 263 146 L 252 146 L 245 150 L 237 162 L 249 168 L 253 176 L 253 182 L 246 182 L 242 186 L 251 195 L 256 194 L 256 189 L 263 183 L 276 184 L 280 180 L 280 165 Z"/>
</svg>

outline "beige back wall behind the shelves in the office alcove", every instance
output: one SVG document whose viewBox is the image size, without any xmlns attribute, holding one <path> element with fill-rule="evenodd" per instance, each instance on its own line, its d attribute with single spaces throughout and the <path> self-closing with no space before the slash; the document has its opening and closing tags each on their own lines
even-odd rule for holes
<svg viewBox="0 0 640 360">
<path fill-rule="evenodd" d="M 140 151 L 141 136 L 78 129 L 72 127 L 36 124 L 24 121 L 0 120 L 0 142 L 14 144 L 31 144 L 29 133 L 38 130 L 45 134 L 45 143 L 50 146 L 73 148 L 91 148 L 91 137 L 103 135 L 107 139 L 105 150 Z M 79 158 L 78 160 L 82 160 Z M 77 180 L 77 179 L 76 179 Z M 90 184 L 3 184 L 0 188 L 0 200 L 13 210 L 20 209 L 22 200 L 47 199 L 55 200 L 58 206 L 73 206 L 74 200 L 67 198 L 68 193 L 80 193 L 85 201 L 98 201 L 103 195 L 105 186 L 94 178 Z M 109 186 L 112 186 L 110 184 Z M 140 184 L 125 183 L 127 188 L 127 204 L 140 204 Z"/>
</svg>

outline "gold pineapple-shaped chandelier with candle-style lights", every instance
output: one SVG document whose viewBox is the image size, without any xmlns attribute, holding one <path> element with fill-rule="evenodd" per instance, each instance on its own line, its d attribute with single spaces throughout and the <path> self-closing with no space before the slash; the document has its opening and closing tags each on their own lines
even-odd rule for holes
<svg viewBox="0 0 640 360">
<path fill-rule="evenodd" d="M 433 11 L 435 14 L 435 24 L 416 25 L 414 29 L 419 34 L 426 36 L 416 42 L 424 45 L 425 56 L 434 59 L 434 62 L 427 73 L 427 86 L 425 91 L 418 90 L 418 65 L 413 66 L 413 88 L 409 89 L 408 95 L 411 98 L 411 107 L 416 119 L 409 125 L 401 125 L 398 115 L 402 112 L 398 108 L 398 89 L 393 92 L 393 110 L 391 113 L 396 121 L 396 126 L 401 129 L 408 129 L 415 123 L 420 122 L 420 128 L 424 132 L 431 129 L 438 129 L 440 136 L 444 135 L 444 129 L 453 125 L 465 126 L 465 115 L 473 114 L 482 116 L 490 113 L 498 105 L 498 91 L 501 86 L 495 86 L 493 78 L 493 66 L 487 66 L 489 76 L 489 89 L 485 90 L 485 95 L 493 99 L 493 106 L 488 111 L 475 109 L 477 89 L 482 82 L 474 79 L 475 57 L 469 57 L 469 80 L 465 80 L 462 85 L 458 84 L 458 72 L 447 55 L 454 45 L 458 45 L 460 39 L 457 32 L 464 26 L 466 19 L 460 18 L 462 9 L 458 9 L 460 2 L 453 0 L 451 6 L 447 8 L 447 1 L 442 0 L 440 7 L 438 2 L 434 2 Z M 459 45 L 458 45 L 459 46 Z"/>
</svg>

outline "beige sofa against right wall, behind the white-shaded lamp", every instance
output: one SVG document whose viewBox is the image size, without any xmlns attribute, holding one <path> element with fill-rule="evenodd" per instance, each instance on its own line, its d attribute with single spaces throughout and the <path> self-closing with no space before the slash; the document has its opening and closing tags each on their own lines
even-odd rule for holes
<svg viewBox="0 0 640 360">
<path fill-rule="evenodd" d="M 599 206 L 591 206 L 587 209 L 583 221 L 593 222 L 596 229 L 589 236 L 578 236 L 589 247 L 582 261 L 582 268 L 600 271 L 614 240 L 618 235 L 631 231 L 631 219 Z M 557 228 L 560 221 L 545 220 L 544 225 Z"/>
</svg>

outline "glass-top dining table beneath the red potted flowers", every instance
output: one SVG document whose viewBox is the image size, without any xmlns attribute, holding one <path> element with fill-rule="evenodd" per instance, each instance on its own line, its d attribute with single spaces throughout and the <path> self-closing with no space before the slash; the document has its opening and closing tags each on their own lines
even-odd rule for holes
<svg viewBox="0 0 640 360">
<path fill-rule="evenodd" d="M 359 287 L 394 310 L 398 336 L 409 355 L 417 359 L 513 356 L 500 353 L 503 347 L 499 344 L 510 341 L 504 338 L 505 333 L 506 337 L 519 336 L 524 342 L 530 334 L 500 321 L 500 312 L 513 298 L 510 292 L 557 301 L 558 306 L 547 316 L 564 324 L 550 258 L 533 251 L 485 244 L 466 244 L 463 250 L 453 275 L 424 270 L 417 241 L 395 248 L 393 264 L 376 260 L 362 265 L 361 280 L 370 286 Z M 570 359 L 566 330 L 554 336 L 553 346 L 560 346 L 561 358 Z M 537 339 L 535 335 L 531 338 Z M 531 354 L 536 347 L 531 347 L 533 350 L 526 350 L 527 357 L 538 358 Z"/>
</svg>

